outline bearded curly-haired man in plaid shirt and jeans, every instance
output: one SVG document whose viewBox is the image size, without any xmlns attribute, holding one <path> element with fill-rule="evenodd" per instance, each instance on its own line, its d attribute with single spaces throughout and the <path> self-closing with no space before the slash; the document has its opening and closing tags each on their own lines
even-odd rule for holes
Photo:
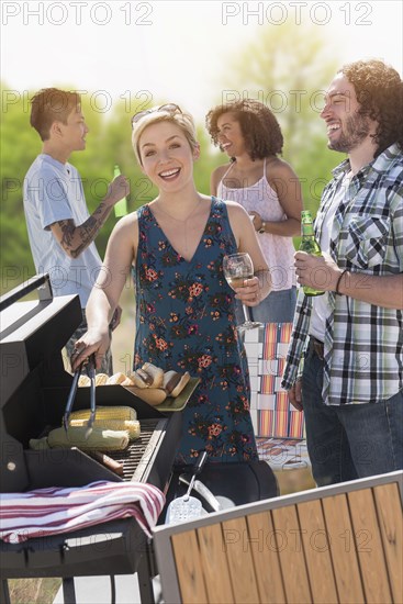
<svg viewBox="0 0 403 604">
<path fill-rule="evenodd" d="M 348 158 L 315 220 L 323 256 L 295 254 L 299 283 L 325 294 L 301 288 L 282 381 L 318 485 L 403 467 L 402 99 L 393 68 L 356 61 L 321 113 L 328 147 Z"/>
</svg>

